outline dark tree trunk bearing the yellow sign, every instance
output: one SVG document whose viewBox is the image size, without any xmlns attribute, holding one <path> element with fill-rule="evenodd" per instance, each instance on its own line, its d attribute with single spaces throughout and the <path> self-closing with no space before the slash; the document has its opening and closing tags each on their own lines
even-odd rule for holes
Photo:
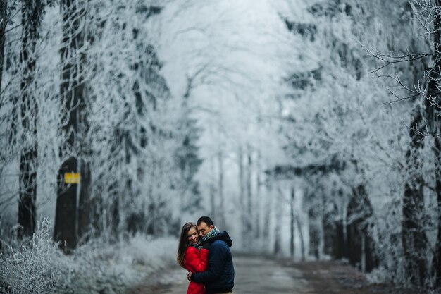
<svg viewBox="0 0 441 294">
<path fill-rule="evenodd" d="M 78 155 L 80 144 L 77 137 L 81 137 L 80 116 L 82 104 L 85 103 L 85 85 L 83 65 L 85 53 L 79 53 L 84 46 L 85 16 L 84 1 L 63 0 L 61 1 L 61 14 L 63 16 L 63 39 L 61 46 L 61 62 L 63 64 L 61 74 L 61 135 L 66 142 L 61 146 L 61 158 L 66 158 L 70 151 L 71 155 L 63 161 L 58 171 L 58 193 L 56 199 L 56 221 L 54 227 L 54 239 L 61 241 L 61 247 L 67 250 L 77 245 L 77 183 L 66 185 L 66 173 L 79 173 Z M 87 178 L 87 175 L 86 175 Z M 84 205 L 88 200 L 82 200 Z"/>
</svg>

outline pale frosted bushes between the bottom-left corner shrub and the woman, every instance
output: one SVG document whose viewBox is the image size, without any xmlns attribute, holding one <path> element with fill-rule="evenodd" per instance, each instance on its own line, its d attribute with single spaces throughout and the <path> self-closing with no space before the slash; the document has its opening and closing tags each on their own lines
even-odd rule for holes
<svg viewBox="0 0 441 294">
<path fill-rule="evenodd" d="M 91 240 L 74 252 L 71 287 L 75 293 L 120 293 L 145 283 L 149 274 L 176 264 L 177 244 L 175 238 L 142 234 L 112 245 Z"/>
</svg>

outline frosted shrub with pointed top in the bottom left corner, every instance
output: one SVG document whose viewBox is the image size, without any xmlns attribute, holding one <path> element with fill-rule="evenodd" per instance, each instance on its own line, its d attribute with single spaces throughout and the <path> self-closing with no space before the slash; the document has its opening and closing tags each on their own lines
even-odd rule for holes
<svg viewBox="0 0 441 294">
<path fill-rule="evenodd" d="M 51 240 L 44 219 L 32 239 L 18 247 L 6 245 L 0 255 L 0 293 L 54 293 L 63 288 L 68 269 L 63 253 Z"/>
</svg>

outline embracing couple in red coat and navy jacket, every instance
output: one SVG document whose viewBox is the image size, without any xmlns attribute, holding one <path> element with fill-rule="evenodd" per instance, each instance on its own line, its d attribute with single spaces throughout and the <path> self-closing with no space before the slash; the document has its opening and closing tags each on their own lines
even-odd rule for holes
<svg viewBox="0 0 441 294">
<path fill-rule="evenodd" d="M 178 264 L 188 270 L 187 294 L 232 293 L 235 269 L 227 232 L 219 231 L 209 216 L 182 226 Z"/>
</svg>

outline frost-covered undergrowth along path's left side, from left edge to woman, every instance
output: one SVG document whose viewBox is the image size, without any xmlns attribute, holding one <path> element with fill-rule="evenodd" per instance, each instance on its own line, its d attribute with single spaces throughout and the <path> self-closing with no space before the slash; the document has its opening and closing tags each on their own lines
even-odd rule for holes
<svg viewBox="0 0 441 294">
<path fill-rule="evenodd" d="M 32 239 L 9 243 L 0 255 L 0 293 L 49 294 L 120 293 L 175 264 L 178 241 L 135 235 L 108 245 L 94 239 L 64 255 L 45 219 Z"/>
</svg>

